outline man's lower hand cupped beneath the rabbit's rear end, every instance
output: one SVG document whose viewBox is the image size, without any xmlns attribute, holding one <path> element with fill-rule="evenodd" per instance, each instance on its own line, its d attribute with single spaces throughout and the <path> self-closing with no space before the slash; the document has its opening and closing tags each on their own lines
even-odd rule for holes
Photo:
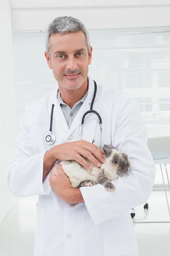
<svg viewBox="0 0 170 256">
<path fill-rule="evenodd" d="M 57 175 L 54 174 L 54 170 L 57 168 Z M 49 178 L 50 186 L 54 192 L 68 204 L 83 203 L 83 197 L 80 189 L 75 189 L 71 186 L 70 180 L 65 174 L 60 164 L 55 165 L 51 169 Z"/>
</svg>

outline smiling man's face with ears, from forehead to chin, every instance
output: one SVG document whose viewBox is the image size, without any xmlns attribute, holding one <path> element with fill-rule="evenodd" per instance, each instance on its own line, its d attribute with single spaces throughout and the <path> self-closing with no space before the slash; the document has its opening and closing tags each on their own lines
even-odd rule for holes
<svg viewBox="0 0 170 256">
<path fill-rule="evenodd" d="M 88 76 L 92 58 L 92 47 L 88 53 L 84 33 L 51 35 L 49 52 L 50 58 L 47 52 L 45 58 L 58 84 L 70 90 L 81 87 Z"/>
</svg>

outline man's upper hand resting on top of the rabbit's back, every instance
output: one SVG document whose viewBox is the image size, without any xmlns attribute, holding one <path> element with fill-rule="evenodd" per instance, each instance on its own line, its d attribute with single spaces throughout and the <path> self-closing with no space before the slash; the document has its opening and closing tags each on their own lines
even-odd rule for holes
<svg viewBox="0 0 170 256">
<path fill-rule="evenodd" d="M 101 163 L 105 163 L 105 154 L 103 151 L 96 145 L 85 140 L 59 144 L 51 148 L 50 151 L 60 161 L 76 160 L 88 169 L 91 169 L 91 165 L 83 157 L 87 158 L 97 167 L 100 167 Z"/>
</svg>

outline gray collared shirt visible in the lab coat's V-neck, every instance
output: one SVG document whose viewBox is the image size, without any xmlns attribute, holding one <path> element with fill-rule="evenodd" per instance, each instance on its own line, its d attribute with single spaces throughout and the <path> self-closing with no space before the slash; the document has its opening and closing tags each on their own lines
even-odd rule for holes
<svg viewBox="0 0 170 256">
<path fill-rule="evenodd" d="M 85 95 L 82 97 L 82 99 L 80 99 L 71 109 L 67 104 L 65 104 L 61 98 L 61 93 L 60 91 L 58 91 L 57 97 L 58 97 L 58 102 L 59 105 L 62 109 L 62 112 L 65 116 L 65 120 L 68 124 L 68 127 L 70 129 L 71 124 L 74 120 L 74 117 L 77 115 L 79 109 L 81 108 L 83 102 L 85 101 L 85 98 L 87 97 L 88 91 L 85 93 Z"/>
</svg>

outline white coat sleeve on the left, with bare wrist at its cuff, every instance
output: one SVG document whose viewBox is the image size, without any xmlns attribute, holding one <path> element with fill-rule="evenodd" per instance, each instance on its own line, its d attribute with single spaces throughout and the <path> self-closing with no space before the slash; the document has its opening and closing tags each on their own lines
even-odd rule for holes
<svg viewBox="0 0 170 256">
<path fill-rule="evenodd" d="M 28 105 L 20 121 L 20 132 L 14 146 L 14 157 L 8 165 L 7 185 L 10 192 L 19 197 L 48 195 L 51 186 L 48 179 L 42 183 L 49 169 L 55 163 L 49 152 L 34 154 L 28 128 Z M 49 163 L 48 163 L 49 159 Z M 42 177 L 42 170 L 44 170 Z"/>
</svg>

